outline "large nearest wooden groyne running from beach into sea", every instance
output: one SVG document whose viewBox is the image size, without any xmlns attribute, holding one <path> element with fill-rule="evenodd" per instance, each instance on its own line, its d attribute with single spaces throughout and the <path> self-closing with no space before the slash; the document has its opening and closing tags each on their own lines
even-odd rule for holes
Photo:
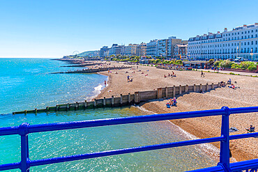
<svg viewBox="0 0 258 172">
<path fill-rule="evenodd" d="M 193 86 L 172 86 L 165 88 L 157 88 L 154 91 L 137 91 L 134 94 L 128 93 L 128 95 L 120 95 L 120 97 L 112 97 L 103 99 L 94 99 L 94 101 L 87 102 L 75 102 L 68 104 L 57 104 L 55 107 L 46 107 L 45 109 L 34 109 L 30 111 L 17 111 L 13 114 L 37 114 L 49 111 L 76 111 L 79 109 L 93 109 L 98 107 L 122 107 L 131 104 L 139 104 L 139 102 L 146 102 L 148 100 L 165 99 L 168 97 L 175 97 L 183 93 L 210 91 L 214 88 L 220 87 L 218 84 L 199 84 Z"/>
</svg>

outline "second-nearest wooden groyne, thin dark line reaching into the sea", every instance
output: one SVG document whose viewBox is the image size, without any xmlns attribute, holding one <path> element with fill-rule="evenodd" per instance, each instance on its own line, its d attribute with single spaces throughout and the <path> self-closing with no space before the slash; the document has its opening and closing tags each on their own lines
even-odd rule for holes
<svg viewBox="0 0 258 172">
<path fill-rule="evenodd" d="M 103 72 L 107 70 L 121 70 L 121 69 L 128 69 L 132 68 L 130 66 L 121 66 L 121 67 L 109 67 L 109 68 L 93 68 L 93 69 L 85 69 L 85 70 L 75 70 L 75 71 L 68 71 L 68 72 L 53 72 L 52 74 L 57 73 L 96 73 L 96 72 Z"/>
</svg>

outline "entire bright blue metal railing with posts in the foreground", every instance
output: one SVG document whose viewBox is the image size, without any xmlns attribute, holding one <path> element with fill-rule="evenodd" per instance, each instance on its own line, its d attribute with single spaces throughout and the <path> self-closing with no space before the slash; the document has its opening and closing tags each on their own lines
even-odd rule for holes
<svg viewBox="0 0 258 172">
<path fill-rule="evenodd" d="M 83 120 L 67 123 L 48 123 L 29 125 L 22 123 L 20 126 L 14 127 L 1 127 L 0 136 L 19 134 L 21 136 L 21 161 L 12 164 L 1 164 L 0 171 L 10 169 L 21 169 L 22 172 L 29 171 L 31 166 L 40 166 L 46 164 L 55 164 L 59 162 L 70 162 L 79 159 L 90 159 L 96 157 L 105 157 L 111 155 L 120 155 L 125 153 L 137 153 L 147 150 L 158 150 L 165 148 L 174 148 L 180 146 L 190 146 L 201 143 L 211 143 L 220 141 L 220 162 L 217 166 L 209 167 L 206 169 L 199 169 L 195 171 L 257 171 L 258 159 L 252 159 L 244 162 L 235 162 L 229 164 L 229 140 L 244 139 L 258 136 L 258 132 L 248 134 L 237 134 L 229 136 L 229 115 L 230 114 L 243 114 L 250 112 L 258 112 L 258 107 L 239 107 L 231 108 L 222 107 L 222 109 L 213 109 L 206 111 L 187 111 L 170 114 L 155 114 L 146 116 L 130 116 L 125 118 L 107 118 L 98 120 Z M 128 123 L 145 123 L 158 120 L 174 120 L 181 118 L 197 118 L 204 116 L 222 116 L 221 136 L 195 139 L 190 141 L 179 141 L 173 143 L 162 143 L 151 146 L 139 146 L 134 148 L 123 148 L 118 150 L 107 150 L 97 153 L 86 153 L 82 155 L 70 155 L 65 157 L 53 157 L 47 159 L 29 159 L 29 139 L 28 135 L 35 132 L 50 132 L 56 130 L 70 130 L 85 127 L 100 127 L 106 125 L 121 125 Z"/>
</svg>

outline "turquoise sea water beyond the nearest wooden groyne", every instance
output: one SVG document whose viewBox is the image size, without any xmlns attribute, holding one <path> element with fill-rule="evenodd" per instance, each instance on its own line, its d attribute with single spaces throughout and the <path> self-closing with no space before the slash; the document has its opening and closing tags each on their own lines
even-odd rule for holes
<svg viewBox="0 0 258 172">
<path fill-rule="evenodd" d="M 0 114 L 90 100 L 104 85 L 97 74 L 50 74 L 82 68 L 59 68 L 63 61 L 0 58 Z"/>
</svg>

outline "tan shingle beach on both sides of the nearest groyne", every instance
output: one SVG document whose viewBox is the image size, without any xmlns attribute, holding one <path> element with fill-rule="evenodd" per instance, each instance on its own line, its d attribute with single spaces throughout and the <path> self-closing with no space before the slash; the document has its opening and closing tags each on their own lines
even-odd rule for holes
<svg viewBox="0 0 258 172">
<path fill-rule="evenodd" d="M 114 63 L 110 65 L 125 65 L 123 63 Z M 132 69 L 111 70 L 111 72 L 100 72 L 101 75 L 107 75 L 108 86 L 101 91 L 97 98 L 119 97 L 120 94 L 135 93 L 135 91 L 150 91 L 165 86 L 193 85 L 193 84 L 211 84 L 220 81 L 227 81 L 229 78 L 239 88 L 216 88 L 206 93 L 185 93 L 177 97 L 177 107 L 168 109 L 165 107 L 167 100 L 156 100 L 141 103 L 140 106 L 155 113 L 171 113 L 178 111 L 197 111 L 206 109 L 220 109 L 221 107 L 254 107 L 258 105 L 258 78 L 241 75 L 226 75 L 213 72 L 205 72 L 205 77 L 200 77 L 199 71 L 178 71 L 174 70 L 177 77 L 164 77 L 172 70 L 157 69 L 153 66 L 132 65 Z M 117 74 L 116 74 L 117 72 Z M 127 76 L 133 79 L 128 82 Z M 186 132 L 197 136 L 198 138 L 207 138 L 220 136 L 221 116 L 212 116 L 204 118 L 189 118 L 181 120 L 172 120 L 172 123 L 178 125 Z M 258 128 L 258 114 L 233 114 L 229 117 L 229 127 L 236 127 L 238 132 L 231 134 L 247 133 L 245 127 L 255 125 Z M 257 130 L 257 129 L 256 129 Z M 232 155 L 237 161 L 258 158 L 258 138 L 238 139 L 230 141 Z M 220 143 L 213 143 L 220 148 Z"/>
</svg>

